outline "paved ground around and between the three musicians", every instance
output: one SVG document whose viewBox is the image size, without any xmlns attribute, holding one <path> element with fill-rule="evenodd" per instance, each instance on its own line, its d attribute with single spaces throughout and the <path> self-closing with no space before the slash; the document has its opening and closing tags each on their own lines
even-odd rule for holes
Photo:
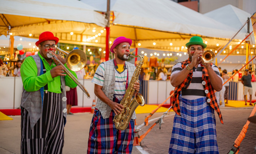
<svg viewBox="0 0 256 154">
<path fill-rule="evenodd" d="M 226 154 L 231 149 L 234 141 L 245 125 L 253 107 L 248 108 L 220 108 L 223 115 L 224 125 L 220 123 L 216 116 L 217 141 L 220 154 Z M 153 125 L 163 113 L 155 113 L 149 120 L 149 126 L 140 126 L 142 135 Z M 142 124 L 147 114 L 137 114 L 136 122 Z M 20 116 L 10 116 L 12 121 L 0 121 L 0 153 L 19 154 L 20 153 Z M 154 119 L 155 120 L 152 120 Z M 157 124 L 142 140 L 142 148 L 133 147 L 132 154 L 140 153 L 168 153 L 174 112 L 164 117 L 164 124 Z M 76 113 L 68 115 L 65 126 L 64 154 L 78 153 L 84 154 L 87 150 L 89 128 L 92 120 L 91 113 Z M 256 146 L 256 124 L 250 123 L 244 140 L 241 143 L 239 154 L 255 153 Z M 141 148 L 141 149 L 140 149 Z"/>
</svg>

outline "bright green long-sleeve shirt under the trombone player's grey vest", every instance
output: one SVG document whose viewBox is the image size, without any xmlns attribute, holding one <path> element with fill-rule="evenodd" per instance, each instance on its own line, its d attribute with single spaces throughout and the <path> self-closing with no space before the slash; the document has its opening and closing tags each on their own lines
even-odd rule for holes
<svg viewBox="0 0 256 154">
<path fill-rule="evenodd" d="M 46 73 L 37 76 L 37 66 L 35 60 L 31 56 L 27 57 L 20 67 L 20 74 L 24 89 L 29 92 L 37 91 L 41 87 L 48 84 L 48 91 L 53 93 L 61 93 L 60 76 L 52 78 L 52 75 L 50 73 L 50 70 L 56 66 L 55 63 L 52 62 L 50 66 L 49 63 L 42 57 L 42 55 L 40 55 L 39 52 L 38 55 L 42 59 L 42 62 L 46 69 Z M 64 65 L 67 68 L 67 65 Z M 77 78 L 74 71 L 71 71 L 70 69 L 69 71 Z M 76 83 L 68 75 L 65 76 L 65 84 L 71 88 L 75 88 L 77 86 Z"/>
</svg>

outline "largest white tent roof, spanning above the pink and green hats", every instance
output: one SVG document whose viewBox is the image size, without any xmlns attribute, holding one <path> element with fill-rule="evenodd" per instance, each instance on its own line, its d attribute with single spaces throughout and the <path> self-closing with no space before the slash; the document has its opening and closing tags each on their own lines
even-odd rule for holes
<svg viewBox="0 0 256 154">
<path fill-rule="evenodd" d="M 82 2 L 103 12 L 107 8 L 106 0 L 82 0 Z M 236 32 L 235 28 L 170 0 L 113 0 L 110 10 L 114 11 L 114 24 L 217 38 L 230 38 Z M 237 38 L 241 39 L 241 36 Z M 142 36 L 137 37 L 140 39 Z"/>
</svg>

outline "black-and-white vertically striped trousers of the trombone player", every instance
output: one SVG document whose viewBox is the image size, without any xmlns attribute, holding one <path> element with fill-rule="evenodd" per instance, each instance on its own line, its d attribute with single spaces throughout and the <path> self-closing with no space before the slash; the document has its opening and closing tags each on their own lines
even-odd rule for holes
<svg viewBox="0 0 256 154">
<path fill-rule="evenodd" d="M 62 95 L 44 93 L 40 119 L 31 129 L 28 111 L 21 108 L 21 154 L 62 153 L 64 117 Z"/>
</svg>

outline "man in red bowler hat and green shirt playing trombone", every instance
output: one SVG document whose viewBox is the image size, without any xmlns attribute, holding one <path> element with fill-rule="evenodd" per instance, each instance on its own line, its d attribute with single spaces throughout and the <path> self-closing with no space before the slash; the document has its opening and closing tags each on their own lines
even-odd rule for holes
<svg viewBox="0 0 256 154">
<path fill-rule="evenodd" d="M 38 54 L 27 57 L 21 65 L 21 153 L 62 153 L 66 123 L 65 85 L 77 84 L 64 73 L 66 61 L 55 54 L 58 38 L 43 32 L 36 46 Z M 70 72 L 76 77 L 75 72 Z"/>
</svg>

